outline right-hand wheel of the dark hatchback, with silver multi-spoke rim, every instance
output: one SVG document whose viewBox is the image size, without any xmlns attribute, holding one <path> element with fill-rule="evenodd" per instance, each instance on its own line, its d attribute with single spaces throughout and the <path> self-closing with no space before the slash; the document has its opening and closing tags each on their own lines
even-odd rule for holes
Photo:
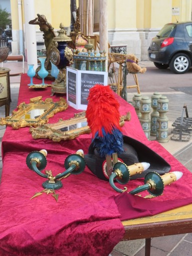
<svg viewBox="0 0 192 256">
<path fill-rule="evenodd" d="M 175 74 L 184 74 L 190 68 L 190 59 L 184 53 L 176 54 L 170 61 L 169 68 Z"/>
</svg>

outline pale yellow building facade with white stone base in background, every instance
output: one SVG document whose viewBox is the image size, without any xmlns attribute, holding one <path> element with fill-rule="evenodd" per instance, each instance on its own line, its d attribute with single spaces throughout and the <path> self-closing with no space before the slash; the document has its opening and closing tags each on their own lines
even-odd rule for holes
<svg viewBox="0 0 192 256">
<path fill-rule="evenodd" d="M 6 0 L 4 0 L 6 1 Z M 26 54 L 26 24 L 24 4 L 27 0 L 7 0 L 11 3 L 13 53 Z M 30 0 L 34 4 L 34 19 L 43 14 L 57 34 L 60 23 L 70 27 L 70 0 Z M 77 0 L 88 2 L 90 0 Z M 93 3 L 94 33 L 99 33 L 102 25 L 99 16 L 101 0 Z M 126 45 L 127 52 L 135 54 L 139 60 L 147 60 L 147 49 L 151 39 L 164 24 L 191 20 L 192 0 L 105 0 L 107 2 L 107 30 L 110 45 Z M 31 25 L 32 26 L 32 25 Z M 39 26 L 36 28 L 37 43 L 43 42 Z M 83 31 L 82 31 L 83 32 Z M 23 45 L 23 48 L 22 48 Z M 43 48 L 43 47 L 42 47 Z"/>
</svg>

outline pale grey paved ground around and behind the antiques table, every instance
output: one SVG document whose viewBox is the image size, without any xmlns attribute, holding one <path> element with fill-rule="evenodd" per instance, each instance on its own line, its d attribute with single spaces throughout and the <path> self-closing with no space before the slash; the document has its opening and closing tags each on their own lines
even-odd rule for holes
<svg viewBox="0 0 192 256">
<path fill-rule="evenodd" d="M 142 95 L 151 96 L 153 92 L 159 91 L 162 95 L 167 96 L 169 99 L 169 111 L 167 116 L 169 119 L 169 141 L 161 144 L 167 151 L 169 151 L 176 159 L 178 159 L 189 171 L 192 172 L 192 140 L 188 142 L 172 141 L 172 123 L 177 117 L 181 116 L 183 104 L 185 103 L 188 110 L 188 115 L 192 115 L 192 93 L 190 86 L 189 74 L 172 75 L 169 70 L 162 71 L 156 69 L 150 62 L 142 62 L 142 66 L 147 67 L 146 74 L 139 76 L 139 84 Z M 18 70 L 22 67 L 22 63 L 5 63 L 11 69 L 11 72 Z M 25 63 L 25 70 L 27 72 L 27 63 Z M 159 73 L 161 74 L 159 80 Z M 158 81 L 155 78 L 158 77 Z M 170 82 L 167 80 L 170 77 Z M 171 78 L 172 77 L 172 78 Z M 188 77 L 186 79 L 186 77 Z M 179 85 L 177 85 L 180 80 Z M 185 81 L 184 84 L 182 81 Z M 189 83 L 188 83 L 189 82 Z M 154 86 L 151 86 L 154 83 Z M 187 84 L 188 83 L 188 84 Z M 162 87 L 160 87 L 162 85 Z M 17 107 L 17 99 L 20 86 L 20 76 L 11 77 L 11 112 Z M 132 101 L 136 89 L 128 90 L 128 101 Z M 5 106 L 0 108 L 0 117 L 5 117 Z M 0 141 L 5 132 L 5 126 L 0 126 Z M 151 138 L 154 140 L 155 138 Z M 1 145 L 0 145 L 1 146 Z M 2 156 L 0 155 L 0 174 L 2 172 Z M 113 251 L 112 256 L 144 256 L 144 239 L 122 241 L 118 243 Z M 151 240 L 151 256 L 191 256 L 192 247 L 192 234 L 171 235 L 165 237 L 156 237 Z M 102 255 L 101 255 L 102 256 Z"/>
</svg>

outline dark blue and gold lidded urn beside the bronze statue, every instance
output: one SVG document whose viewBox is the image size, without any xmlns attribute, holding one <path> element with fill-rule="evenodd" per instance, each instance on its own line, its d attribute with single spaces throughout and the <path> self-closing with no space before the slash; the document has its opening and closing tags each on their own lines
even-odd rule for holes
<svg viewBox="0 0 192 256">
<path fill-rule="evenodd" d="M 58 78 L 52 84 L 52 95 L 54 93 L 65 94 L 66 89 L 66 67 L 73 63 L 73 52 L 68 47 L 72 39 L 66 35 L 63 24 L 60 24 L 58 36 L 54 37 L 50 50 L 50 60 L 59 69 Z"/>
</svg>

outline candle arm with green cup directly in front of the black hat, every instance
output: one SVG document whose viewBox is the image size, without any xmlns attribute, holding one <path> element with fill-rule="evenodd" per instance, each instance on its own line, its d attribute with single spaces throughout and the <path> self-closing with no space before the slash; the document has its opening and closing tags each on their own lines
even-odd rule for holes
<svg viewBox="0 0 192 256">
<path fill-rule="evenodd" d="M 147 170 L 149 166 L 150 164 L 146 162 L 136 163 L 129 166 L 122 162 L 117 162 L 113 166 L 113 172 L 109 177 L 109 183 L 115 191 L 119 193 L 125 192 L 127 188 L 117 188 L 114 184 L 114 180 L 116 180 L 119 184 L 126 184 L 130 180 L 131 176 L 135 174 L 141 174 L 143 171 Z"/>
</svg>

